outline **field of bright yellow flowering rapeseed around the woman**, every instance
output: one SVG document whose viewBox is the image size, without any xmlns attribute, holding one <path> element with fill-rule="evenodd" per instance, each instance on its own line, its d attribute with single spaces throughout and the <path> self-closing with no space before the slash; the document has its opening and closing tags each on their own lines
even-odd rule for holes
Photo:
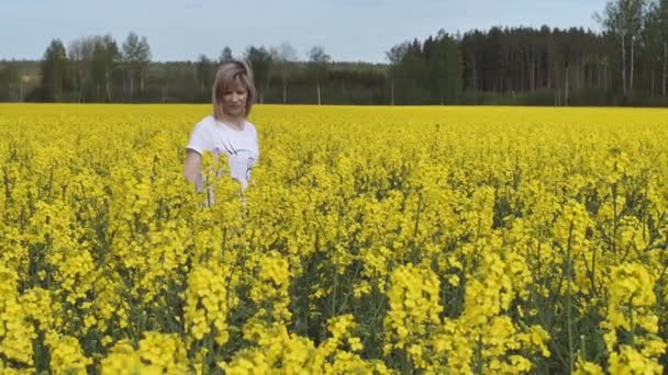
<svg viewBox="0 0 668 375">
<path fill-rule="evenodd" d="M 209 112 L 0 104 L 0 373 L 664 372 L 668 110 Z"/>
</svg>

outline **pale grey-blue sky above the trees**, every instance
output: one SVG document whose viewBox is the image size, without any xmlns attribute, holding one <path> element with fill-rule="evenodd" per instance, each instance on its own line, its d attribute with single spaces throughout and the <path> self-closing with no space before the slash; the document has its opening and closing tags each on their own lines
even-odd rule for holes
<svg viewBox="0 0 668 375">
<path fill-rule="evenodd" d="M 289 42 L 299 59 L 321 45 L 336 61 L 386 63 L 393 45 L 439 29 L 461 33 L 493 25 L 599 30 L 605 0 L 0 0 L 0 59 L 38 59 L 52 38 L 67 46 L 134 31 L 154 60 L 211 58 L 230 46 Z"/>
</svg>

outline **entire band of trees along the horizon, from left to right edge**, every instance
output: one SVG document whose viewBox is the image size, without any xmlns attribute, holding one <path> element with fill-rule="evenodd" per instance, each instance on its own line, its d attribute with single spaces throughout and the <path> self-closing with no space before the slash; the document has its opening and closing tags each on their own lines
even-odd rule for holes
<svg viewBox="0 0 668 375">
<path fill-rule="evenodd" d="M 388 64 L 335 63 L 314 46 L 249 46 L 260 103 L 668 105 L 668 0 L 611 0 L 582 27 L 438 31 L 399 43 Z M 234 57 L 152 61 L 146 37 L 54 39 L 41 61 L 0 63 L 0 100 L 210 101 L 216 67 Z"/>
</svg>

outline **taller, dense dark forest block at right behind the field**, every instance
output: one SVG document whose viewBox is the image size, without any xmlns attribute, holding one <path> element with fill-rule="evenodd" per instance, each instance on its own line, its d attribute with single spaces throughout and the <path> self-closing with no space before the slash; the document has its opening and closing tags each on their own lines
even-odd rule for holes
<svg viewBox="0 0 668 375">
<path fill-rule="evenodd" d="M 399 44 L 390 102 L 668 105 L 668 0 L 613 0 L 594 18 L 601 33 L 491 27 Z"/>
</svg>

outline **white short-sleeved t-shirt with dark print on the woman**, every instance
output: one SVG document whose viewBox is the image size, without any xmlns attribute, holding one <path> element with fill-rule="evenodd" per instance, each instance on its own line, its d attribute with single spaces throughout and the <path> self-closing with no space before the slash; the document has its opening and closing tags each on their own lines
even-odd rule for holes
<svg viewBox="0 0 668 375">
<path fill-rule="evenodd" d="M 255 125 L 245 122 L 242 130 L 235 130 L 212 115 L 194 125 L 186 148 L 200 155 L 210 151 L 216 158 L 225 155 L 230 174 L 241 182 L 242 189 L 248 186 L 250 171 L 259 158 Z M 198 185 L 199 189 L 201 186 Z"/>
</svg>

